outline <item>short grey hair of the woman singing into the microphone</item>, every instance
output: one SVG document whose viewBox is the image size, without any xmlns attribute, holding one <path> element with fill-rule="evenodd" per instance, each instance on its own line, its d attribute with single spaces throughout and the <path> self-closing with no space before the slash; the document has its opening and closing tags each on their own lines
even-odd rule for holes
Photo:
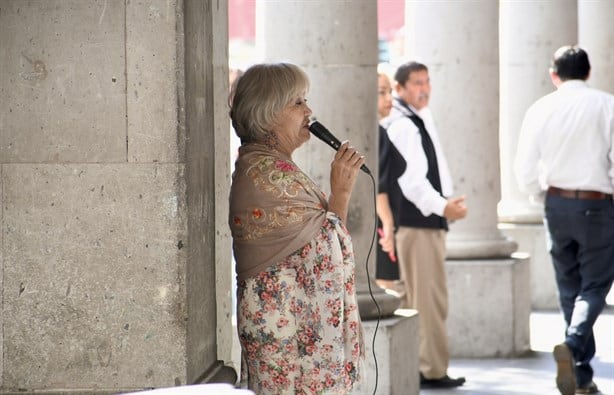
<svg viewBox="0 0 614 395">
<path fill-rule="evenodd" d="M 264 142 L 279 113 L 309 90 L 309 78 L 291 63 L 257 64 L 245 71 L 230 93 L 230 118 L 241 143 Z"/>
</svg>

